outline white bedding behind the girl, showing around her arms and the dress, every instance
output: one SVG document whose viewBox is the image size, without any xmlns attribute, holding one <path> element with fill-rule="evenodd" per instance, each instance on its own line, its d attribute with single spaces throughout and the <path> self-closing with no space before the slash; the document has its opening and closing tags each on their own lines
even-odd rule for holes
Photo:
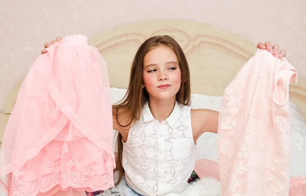
<svg viewBox="0 0 306 196">
<path fill-rule="evenodd" d="M 126 89 L 112 88 L 111 92 L 112 103 L 115 104 L 123 98 Z M 191 95 L 191 107 L 193 109 L 205 108 L 219 111 L 220 105 L 220 96 L 209 96 L 202 94 Z M 290 103 L 290 111 L 293 115 L 290 175 L 306 175 L 306 124 L 297 107 L 293 103 Z M 217 139 L 217 134 L 205 133 L 201 135 L 196 144 L 196 158 L 208 158 L 218 161 L 216 148 Z"/>
</svg>

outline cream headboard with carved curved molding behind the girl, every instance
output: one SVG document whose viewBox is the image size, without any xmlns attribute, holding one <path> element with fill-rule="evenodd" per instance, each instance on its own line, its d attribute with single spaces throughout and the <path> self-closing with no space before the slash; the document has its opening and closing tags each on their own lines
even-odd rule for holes
<svg viewBox="0 0 306 196">
<path fill-rule="evenodd" d="M 197 22 L 150 20 L 119 26 L 89 39 L 89 45 L 98 48 L 108 63 L 112 87 L 127 87 L 138 47 L 155 35 L 169 35 L 182 46 L 190 66 L 193 93 L 221 96 L 256 50 L 256 45 L 239 35 Z M 290 88 L 290 100 L 306 118 L 306 79 L 298 80 Z M 12 89 L 4 113 L 0 113 L 0 143 L 21 82 Z"/>
</svg>

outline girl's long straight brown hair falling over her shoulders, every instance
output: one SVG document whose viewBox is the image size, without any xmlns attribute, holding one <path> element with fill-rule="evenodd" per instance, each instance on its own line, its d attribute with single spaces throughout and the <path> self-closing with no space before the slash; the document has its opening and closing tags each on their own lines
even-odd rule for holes
<svg viewBox="0 0 306 196">
<path fill-rule="evenodd" d="M 169 36 L 151 37 L 147 39 L 136 52 L 132 62 L 129 86 L 127 87 L 127 92 L 122 102 L 113 106 L 113 116 L 116 117 L 116 121 L 122 129 L 130 128 L 133 122 L 140 119 L 142 107 L 149 100 L 149 94 L 146 88 L 143 87 L 143 59 L 148 51 L 158 46 L 167 46 L 175 52 L 182 73 L 181 87 L 179 92 L 176 93 L 176 101 L 183 105 L 190 105 L 191 92 L 189 66 L 181 46 Z M 119 122 L 118 116 L 120 115 L 129 117 L 125 124 Z M 124 175 L 124 169 L 122 167 L 122 149 L 122 136 L 118 133 L 118 153 L 116 156 L 116 168 L 114 169 L 114 172 L 119 172 L 119 180 L 115 183 L 115 186 L 119 184 Z"/>
</svg>

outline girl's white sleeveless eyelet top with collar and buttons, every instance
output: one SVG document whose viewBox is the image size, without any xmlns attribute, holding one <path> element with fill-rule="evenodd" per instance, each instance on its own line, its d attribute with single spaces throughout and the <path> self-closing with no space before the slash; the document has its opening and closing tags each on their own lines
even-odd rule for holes
<svg viewBox="0 0 306 196">
<path fill-rule="evenodd" d="M 136 192 L 162 195 L 187 188 L 195 165 L 190 109 L 175 102 L 170 116 L 159 123 L 148 103 L 143 107 L 122 152 L 126 183 Z"/>
</svg>

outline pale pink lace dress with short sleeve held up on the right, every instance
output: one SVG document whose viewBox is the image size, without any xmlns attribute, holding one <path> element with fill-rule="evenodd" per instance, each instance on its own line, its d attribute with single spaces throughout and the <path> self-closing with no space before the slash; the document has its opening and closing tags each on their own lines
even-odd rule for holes
<svg viewBox="0 0 306 196">
<path fill-rule="evenodd" d="M 224 91 L 218 156 L 222 195 L 288 195 L 291 149 L 286 59 L 259 50 Z"/>
</svg>

